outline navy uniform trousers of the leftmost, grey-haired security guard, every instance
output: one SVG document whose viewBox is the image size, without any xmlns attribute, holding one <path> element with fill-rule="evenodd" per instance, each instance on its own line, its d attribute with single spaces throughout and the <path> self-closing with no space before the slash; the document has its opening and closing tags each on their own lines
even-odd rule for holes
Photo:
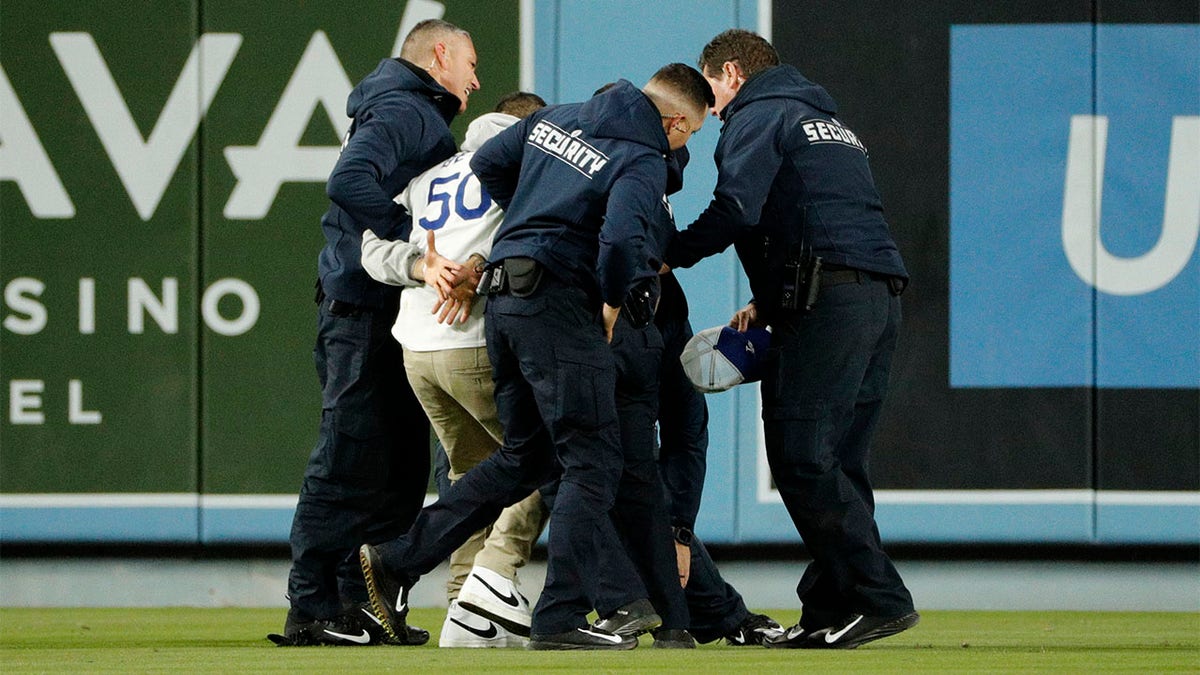
<svg viewBox="0 0 1200 675">
<path fill-rule="evenodd" d="M 313 358 L 320 430 L 292 521 L 288 597 L 302 619 L 366 602 L 362 542 L 408 530 L 425 501 L 430 423 L 391 336 L 395 311 L 336 316 L 322 301 Z"/>
</svg>

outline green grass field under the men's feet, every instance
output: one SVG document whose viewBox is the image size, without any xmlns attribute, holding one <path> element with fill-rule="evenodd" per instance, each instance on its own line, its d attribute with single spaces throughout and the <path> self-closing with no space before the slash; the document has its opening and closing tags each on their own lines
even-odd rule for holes
<svg viewBox="0 0 1200 675">
<path fill-rule="evenodd" d="M 794 610 L 770 611 L 794 621 Z M 2 673 L 1200 673 L 1200 614 L 928 611 L 854 651 L 702 645 L 692 651 L 439 650 L 444 610 L 414 609 L 422 647 L 276 647 L 282 609 L 0 609 Z"/>
</svg>

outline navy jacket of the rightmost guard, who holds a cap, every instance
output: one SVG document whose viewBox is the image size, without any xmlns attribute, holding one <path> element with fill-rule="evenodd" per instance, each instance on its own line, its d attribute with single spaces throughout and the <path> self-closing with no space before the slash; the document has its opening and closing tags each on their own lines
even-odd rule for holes
<svg viewBox="0 0 1200 675">
<path fill-rule="evenodd" d="M 824 264 L 907 279 L 883 220 L 866 149 L 838 106 L 792 66 L 756 73 L 722 110 L 712 203 L 666 252 L 690 267 L 734 244 L 760 311 L 778 307 L 784 265 Z"/>
</svg>

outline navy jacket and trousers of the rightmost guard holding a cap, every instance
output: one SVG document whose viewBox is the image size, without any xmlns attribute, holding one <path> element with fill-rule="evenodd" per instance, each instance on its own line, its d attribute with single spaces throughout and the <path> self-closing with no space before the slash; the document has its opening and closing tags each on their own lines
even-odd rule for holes
<svg viewBox="0 0 1200 675">
<path fill-rule="evenodd" d="M 731 243 L 773 328 L 762 382 L 767 459 L 814 561 L 800 625 L 894 617 L 912 597 L 883 552 L 868 477 L 907 280 L 857 136 L 821 86 L 791 66 L 756 73 L 722 112 L 715 197 L 670 246 L 688 267 Z M 824 261 L 809 311 L 781 306 L 786 263 Z"/>
</svg>

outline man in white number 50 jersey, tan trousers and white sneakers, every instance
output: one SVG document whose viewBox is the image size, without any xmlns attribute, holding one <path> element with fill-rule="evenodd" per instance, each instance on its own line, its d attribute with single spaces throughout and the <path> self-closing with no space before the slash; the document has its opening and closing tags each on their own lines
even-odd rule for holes
<svg viewBox="0 0 1200 675">
<path fill-rule="evenodd" d="M 524 115 L 541 106 L 545 102 L 534 95 L 515 94 L 502 98 L 498 110 Z M 503 438 L 484 335 L 485 299 L 473 303 L 468 293 L 466 301 L 445 305 L 449 310 L 443 312 L 446 286 L 439 294 L 436 285 L 440 275 L 456 273 L 460 288 L 473 291 L 479 280 L 473 274 L 475 264 L 492 251 L 504 213 L 480 187 L 469 161 L 474 150 L 518 120 L 506 112 L 472 121 L 462 151 L 414 178 L 396 197 L 413 215 L 408 240 L 382 240 L 370 229 L 362 238 L 367 274 L 406 287 L 392 335 L 404 347 L 408 381 L 450 459 L 451 480 L 487 458 Z M 450 610 L 439 646 L 524 645 L 522 633 L 528 634 L 532 610 L 515 585 L 516 568 L 528 561 L 545 519 L 541 498 L 534 492 L 504 509 L 494 525 L 450 556 Z M 509 607 L 511 598 L 518 598 L 516 608 Z M 505 610 L 499 622 L 493 621 L 493 605 Z"/>
</svg>

